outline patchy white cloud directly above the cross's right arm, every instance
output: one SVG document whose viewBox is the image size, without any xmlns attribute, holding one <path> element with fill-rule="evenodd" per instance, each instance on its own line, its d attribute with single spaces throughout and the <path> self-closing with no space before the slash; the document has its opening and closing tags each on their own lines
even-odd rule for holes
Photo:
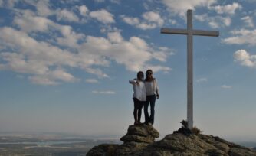
<svg viewBox="0 0 256 156">
<path fill-rule="evenodd" d="M 222 17 L 222 16 L 209 17 L 207 14 L 203 14 L 203 15 L 195 15 L 195 19 L 202 22 L 206 21 L 212 28 L 228 27 L 231 24 L 231 18 L 228 16 L 227 17 Z"/>
</svg>

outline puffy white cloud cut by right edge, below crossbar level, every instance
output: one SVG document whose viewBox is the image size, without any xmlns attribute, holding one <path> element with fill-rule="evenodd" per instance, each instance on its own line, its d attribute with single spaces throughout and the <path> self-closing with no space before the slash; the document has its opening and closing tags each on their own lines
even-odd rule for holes
<svg viewBox="0 0 256 156">
<path fill-rule="evenodd" d="M 246 50 L 241 49 L 235 51 L 233 56 L 235 61 L 240 63 L 242 66 L 256 67 L 256 54 L 251 55 Z"/>
</svg>

